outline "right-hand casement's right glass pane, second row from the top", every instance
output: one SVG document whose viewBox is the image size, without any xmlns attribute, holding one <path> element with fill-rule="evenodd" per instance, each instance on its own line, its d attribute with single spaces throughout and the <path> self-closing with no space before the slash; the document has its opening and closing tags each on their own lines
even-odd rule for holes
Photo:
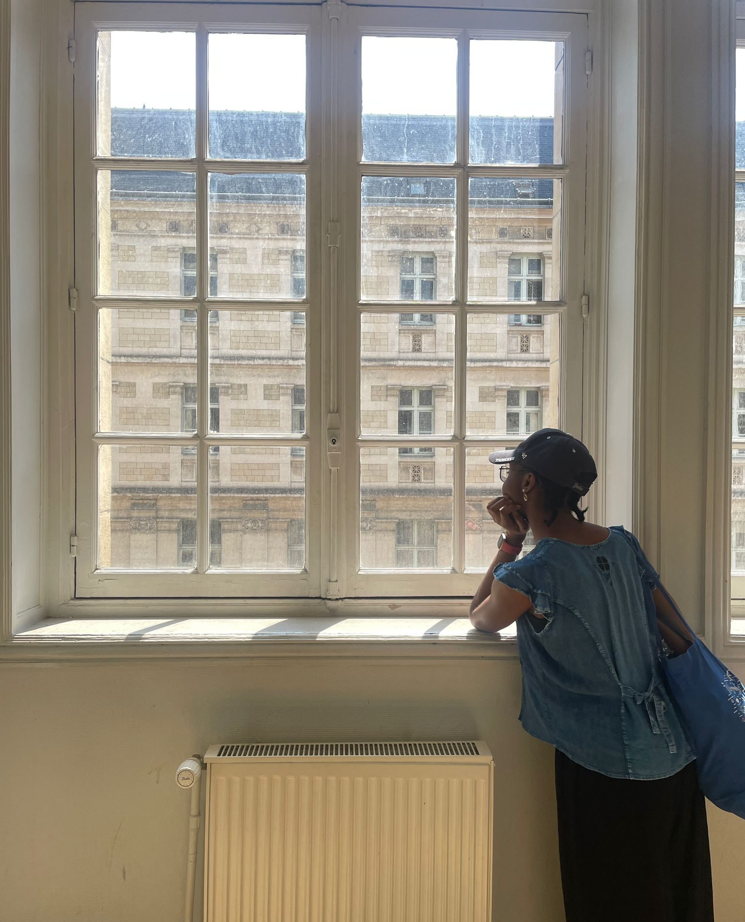
<svg viewBox="0 0 745 922">
<path fill-rule="evenodd" d="M 468 298 L 558 301 L 561 208 L 561 180 L 471 179 Z M 536 273 L 531 265 L 538 267 Z"/>
</svg>

